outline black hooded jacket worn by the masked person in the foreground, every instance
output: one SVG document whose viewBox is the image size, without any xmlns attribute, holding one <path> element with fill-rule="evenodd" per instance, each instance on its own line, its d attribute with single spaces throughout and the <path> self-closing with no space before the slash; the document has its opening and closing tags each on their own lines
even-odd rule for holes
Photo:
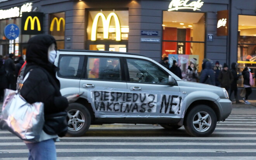
<svg viewBox="0 0 256 160">
<path fill-rule="evenodd" d="M 21 95 L 29 103 L 44 103 L 45 115 L 62 112 L 68 106 L 67 98 L 61 96 L 60 82 L 55 76 L 57 67 L 48 61 L 48 48 L 52 43 L 56 44 L 54 37 L 47 34 L 30 38 L 24 72 L 24 76 L 28 72 L 29 76 L 21 89 Z"/>
</svg>

